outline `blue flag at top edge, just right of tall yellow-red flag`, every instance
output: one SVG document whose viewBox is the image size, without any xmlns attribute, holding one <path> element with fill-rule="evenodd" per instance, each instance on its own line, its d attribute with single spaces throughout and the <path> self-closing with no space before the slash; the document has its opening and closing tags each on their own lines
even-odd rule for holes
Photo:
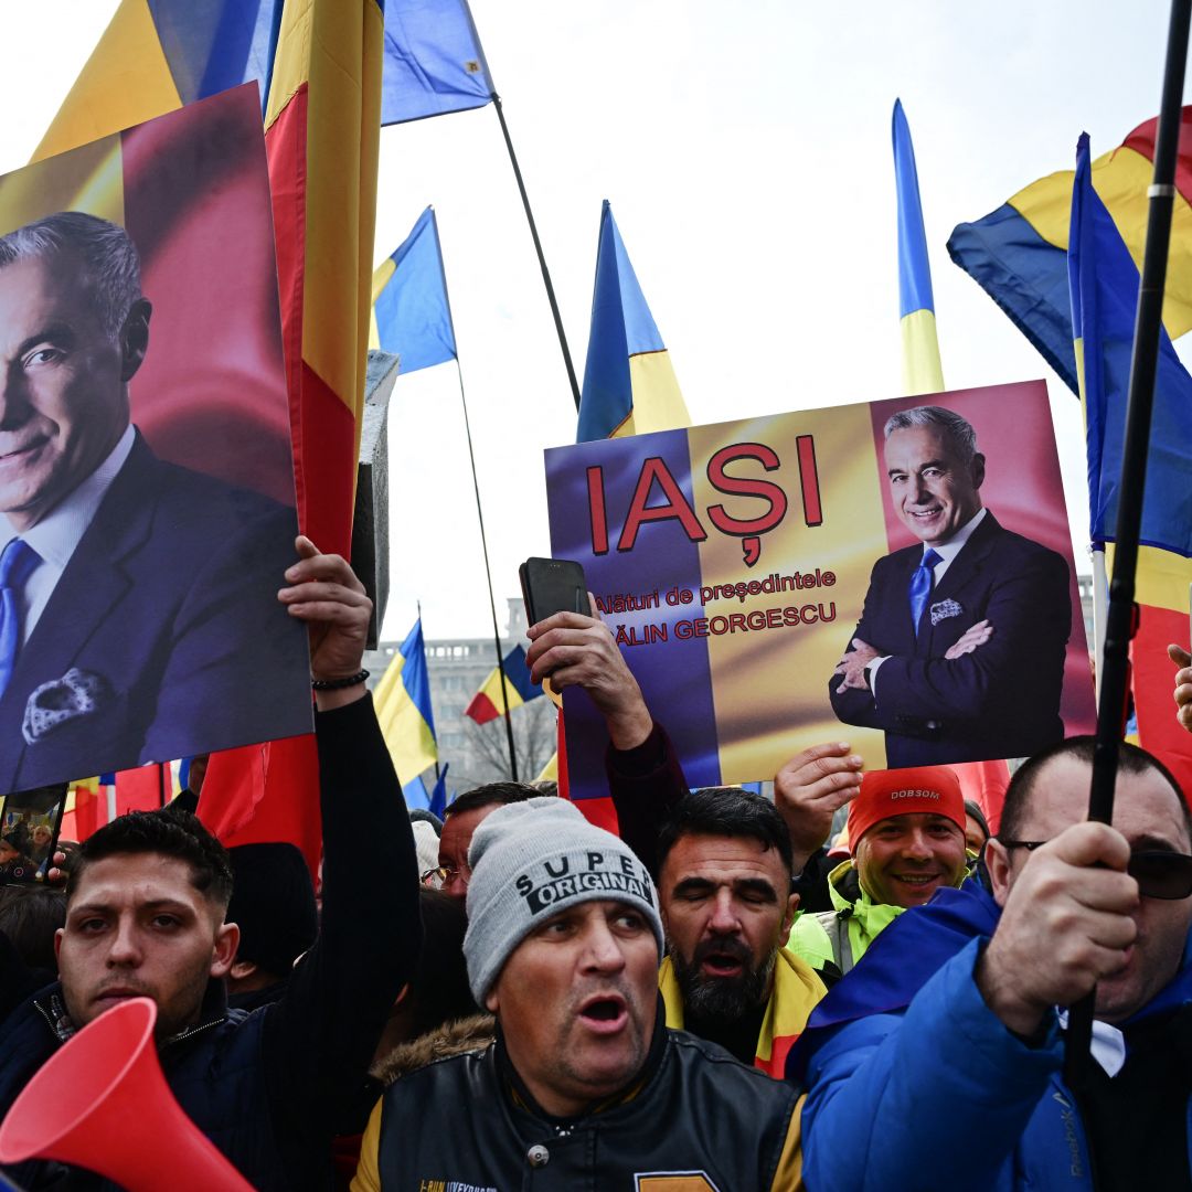
<svg viewBox="0 0 1192 1192">
<path fill-rule="evenodd" d="M 385 0 L 381 124 L 492 101 L 492 80 L 467 0 Z"/>
</svg>

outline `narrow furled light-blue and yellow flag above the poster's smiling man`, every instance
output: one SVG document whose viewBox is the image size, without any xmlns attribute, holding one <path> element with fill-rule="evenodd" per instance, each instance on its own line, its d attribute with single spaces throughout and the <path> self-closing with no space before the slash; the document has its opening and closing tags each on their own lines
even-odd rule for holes
<svg viewBox="0 0 1192 1192">
<path fill-rule="evenodd" d="M 902 321 L 902 392 L 939 393 L 944 372 L 936 336 L 936 300 L 931 292 L 927 236 L 919 201 L 911 128 L 902 101 L 894 100 L 894 185 L 898 191 L 898 286 Z"/>
</svg>

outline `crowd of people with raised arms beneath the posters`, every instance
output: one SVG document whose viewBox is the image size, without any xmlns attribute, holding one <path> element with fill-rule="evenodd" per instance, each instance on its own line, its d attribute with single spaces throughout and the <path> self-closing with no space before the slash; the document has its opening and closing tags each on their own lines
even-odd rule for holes
<svg viewBox="0 0 1192 1192">
<path fill-rule="evenodd" d="M 50 886 L 0 898 L 0 1113 L 145 997 L 170 1091 L 255 1188 L 1188 1185 L 1192 838 L 1156 757 L 1120 746 L 1109 827 L 1085 821 L 1091 739 L 1058 740 L 988 839 L 952 769 L 870 771 L 845 743 L 791 758 L 772 802 L 689 790 L 608 628 L 557 613 L 528 663 L 600 710 L 620 837 L 526 783 L 411 820 L 361 676 L 368 597 L 298 547 L 279 598 L 312 644 L 317 892 L 291 844 L 225 850 L 193 790 L 60 850 Z M 1070 1089 L 1062 1007 L 1094 986 Z"/>
</svg>

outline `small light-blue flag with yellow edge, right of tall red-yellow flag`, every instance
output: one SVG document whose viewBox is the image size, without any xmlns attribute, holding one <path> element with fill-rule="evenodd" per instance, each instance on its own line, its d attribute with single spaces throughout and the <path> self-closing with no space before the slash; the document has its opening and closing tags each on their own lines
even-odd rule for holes
<svg viewBox="0 0 1192 1192">
<path fill-rule="evenodd" d="M 434 207 L 418 216 L 401 247 L 373 272 L 370 347 L 395 353 L 402 375 L 455 359 Z"/>
</svg>

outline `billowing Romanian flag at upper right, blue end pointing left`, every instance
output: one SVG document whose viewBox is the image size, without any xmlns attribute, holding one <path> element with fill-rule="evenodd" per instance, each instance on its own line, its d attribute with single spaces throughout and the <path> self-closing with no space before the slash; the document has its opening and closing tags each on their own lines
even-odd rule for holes
<svg viewBox="0 0 1192 1192">
<path fill-rule="evenodd" d="M 1092 163 L 1092 185 L 1122 240 L 1142 266 L 1157 119 L 1140 124 Z M 1163 323 L 1173 339 L 1192 329 L 1192 107 L 1184 108 Z M 1010 316 L 1073 392 L 1079 392 L 1068 300 L 1067 250 L 1073 174 L 1049 174 L 997 211 L 960 224 L 948 241 L 952 260 Z"/>
</svg>

